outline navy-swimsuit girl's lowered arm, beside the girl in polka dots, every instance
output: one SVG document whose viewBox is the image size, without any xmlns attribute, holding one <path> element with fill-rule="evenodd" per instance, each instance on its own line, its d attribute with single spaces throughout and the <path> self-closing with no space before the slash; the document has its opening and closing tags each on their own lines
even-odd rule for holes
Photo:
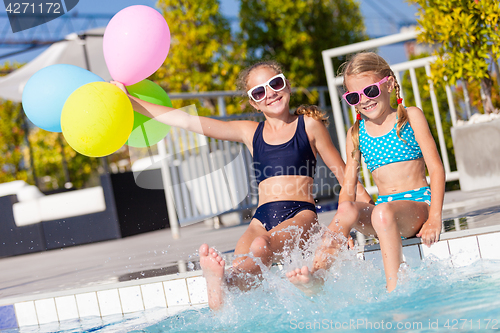
<svg viewBox="0 0 500 333">
<path fill-rule="evenodd" d="M 308 117 L 309 118 L 309 117 Z M 308 124 L 309 123 L 309 124 Z M 328 133 L 327 128 L 318 120 L 310 118 L 306 122 L 307 133 L 312 138 L 312 142 L 316 151 L 319 153 L 325 164 L 328 168 L 335 174 L 337 180 L 340 184 L 344 183 L 344 175 L 345 175 L 345 164 L 340 156 L 337 148 L 333 145 L 332 139 L 330 137 L 330 133 Z M 309 127 L 310 126 L 310 127 Z M 350 132 L 349 132 L 350 133 Z M 350 134 L 348 134 L 350 138 Z M 350 141 L 350 139 L 348 140 Z M 350 150 L 348 150 L 348 155 L 350 154 Z M 366 192 L 363 185 L 357 181 L 356 177 L 356 199 L 362 202 L 372 202 L 372 198 Z M 353 200 L 354 201 L 354 200 Z"/>
</svg>

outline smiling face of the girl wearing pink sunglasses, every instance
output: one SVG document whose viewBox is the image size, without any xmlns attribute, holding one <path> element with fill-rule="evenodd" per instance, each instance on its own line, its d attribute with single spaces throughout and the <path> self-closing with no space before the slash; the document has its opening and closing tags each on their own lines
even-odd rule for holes
<svg viewBox="0 0 500 333">
<path fill-rule="evenodd" d="M 349 75 L 345 77 L 345 85 L 349 91 L 361 91 L 369 85 L 376 84 L 383 77 L 379 77 L 372 72 Z M 369 119 L 376 119 L 387 111 L 391 111 L 390 96 L 394 86 L 394 78 L 389 77 L 387 82 L 380 85 L 380 95 L 375 98 L 368 98 L 361 94 L 356 110 Z"/>
</svg>

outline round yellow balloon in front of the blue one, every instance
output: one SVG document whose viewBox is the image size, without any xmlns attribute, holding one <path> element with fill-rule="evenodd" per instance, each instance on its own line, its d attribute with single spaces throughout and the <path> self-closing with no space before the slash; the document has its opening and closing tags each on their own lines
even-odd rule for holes
<svg viewBox="0 0 500 333">
<path fill-rule="evenodd" d="M 127 95 L 107 82 L 92 82 L 75 90 L 61 113 L 61 128 L 68 144 L 91 157 L 120 149 L 133 125 L 134 110 Z"/>
</svg>

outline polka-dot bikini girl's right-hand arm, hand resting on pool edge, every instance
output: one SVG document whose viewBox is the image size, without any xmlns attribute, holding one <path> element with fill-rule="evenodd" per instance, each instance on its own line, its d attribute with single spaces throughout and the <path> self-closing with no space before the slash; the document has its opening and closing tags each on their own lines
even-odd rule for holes
<svg viewBox="0 0 500 333">
<path fill-rule="evenodd" d="M 432 137 L 429 125 L 422 110 L 410 107 L 408 116 L 411 127 L 415 132 L 415 139 L 424 155 L 425 164 L 431 179 L 431 207 L 429 218 L 420 229 L 417 237 L 422 238 L 422 242 L 430 246 L 439 240 L 442 225 L 442 210 L 445 188 L 445 173 L 443 163 L 439 157 L 436 142 Z"/>
</svg>

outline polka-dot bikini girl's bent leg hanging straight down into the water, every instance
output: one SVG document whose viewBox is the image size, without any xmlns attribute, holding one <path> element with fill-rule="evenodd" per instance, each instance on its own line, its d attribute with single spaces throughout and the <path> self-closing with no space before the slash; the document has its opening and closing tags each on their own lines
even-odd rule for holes
<svg viewBox="0 0 500 333">
<path fill-rule="evenodd" d="M 399 266 L 403 263 L 401 236 L 415 236 L 428 215 L 426 203 L 407 200 L 381 203 L 373 209 L 372 224 L 380 240 L 387 291 L 396 288 Z"/>
</svg>

